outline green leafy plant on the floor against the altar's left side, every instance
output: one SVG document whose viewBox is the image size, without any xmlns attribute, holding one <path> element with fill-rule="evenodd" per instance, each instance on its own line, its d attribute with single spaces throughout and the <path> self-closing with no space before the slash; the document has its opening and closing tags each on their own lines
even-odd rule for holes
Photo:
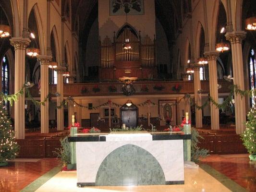
<svg viewBox="0 0 256 192">
<path fill-rule="evenodd" d="M 61 148 L 55 148 L 57 151 L 53 151 L 53 154 L 56 154 L 57 158 L 61 158 L 61 163 L 65 167 L 71 162 L 71 148 L 68 137 L 60 139 L 60 142 Z"/>
</svg>

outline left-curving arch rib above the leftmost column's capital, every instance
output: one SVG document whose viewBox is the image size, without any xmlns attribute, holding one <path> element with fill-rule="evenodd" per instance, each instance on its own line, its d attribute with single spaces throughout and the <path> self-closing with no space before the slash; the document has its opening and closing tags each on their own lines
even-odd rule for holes
<svg viewBox="0 0 256 192">
<path fill-rule="evenodd" d="M 21 13 L 19 9 L 18 0 L 11 0 L 12 4 L 12 19 L 13 19 L 13 36 L 18 37 L 22 34 L 22 26 L 21 26 Z"/>
</svg>

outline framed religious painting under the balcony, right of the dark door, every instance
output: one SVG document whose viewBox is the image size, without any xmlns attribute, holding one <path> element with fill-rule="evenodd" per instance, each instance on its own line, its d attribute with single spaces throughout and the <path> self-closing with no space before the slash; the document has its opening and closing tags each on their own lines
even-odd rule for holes
<svg viewBox="0 0 256 192">
<path fill-rule="evenodd" d="M 158 100 L 158 113 L 160 125 L 174 126 L 177 123 L 176 100 Z"/>
</svg>

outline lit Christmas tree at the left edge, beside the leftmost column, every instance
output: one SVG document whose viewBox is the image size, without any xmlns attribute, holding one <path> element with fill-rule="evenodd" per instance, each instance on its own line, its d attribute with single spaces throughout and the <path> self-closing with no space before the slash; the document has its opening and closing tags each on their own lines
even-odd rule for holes
<svg viewBox="0 0 256 192">
<path fill-rule="evenodd" d="M 7 165 L 7 160 L 18 155 L 19 145 L 15 142 L 11 120 L 0 100 L 0 167 Z"/>
</svg>

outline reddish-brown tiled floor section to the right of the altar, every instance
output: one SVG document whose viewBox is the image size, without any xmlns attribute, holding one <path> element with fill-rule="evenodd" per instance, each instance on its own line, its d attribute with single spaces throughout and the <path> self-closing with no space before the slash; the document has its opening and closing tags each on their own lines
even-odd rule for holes
<svg viewBox="0 0 256 192">
<path fill-rule="evenodd" d="M 247 191 L 256 192 L 256 162 L 250 162 L 247 154 L 211 155 L 202 163 L 234 180 Z"/>
</svg>

